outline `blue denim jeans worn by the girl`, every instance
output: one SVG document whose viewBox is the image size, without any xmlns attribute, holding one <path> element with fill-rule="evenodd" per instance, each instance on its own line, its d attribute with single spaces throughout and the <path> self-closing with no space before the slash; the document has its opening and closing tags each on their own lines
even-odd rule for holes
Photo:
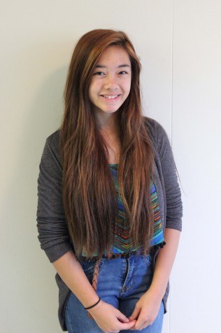
<svg viewBox="0 0 221 333">
<path fill-rule="evenodd" d="M 83 261 L 83 270 L 92 283 L 94 262 Z M 133 255 L 129 259 L 101 259 L 97 294 L 106 303 L 118 308 L 127 318 L 134 311 L 136 302 L 148 290 L 152 281 L 152 261 L 150 255 Z M 152 325 L 141 331 L 122 330 L 120 332 L 161 333 L 164 305 Z M 101 333 L 97 323 L 90 319 L 83 305 L 71 293 L 66 304 L 66 327 L 69 333 Z"/>
</svg>

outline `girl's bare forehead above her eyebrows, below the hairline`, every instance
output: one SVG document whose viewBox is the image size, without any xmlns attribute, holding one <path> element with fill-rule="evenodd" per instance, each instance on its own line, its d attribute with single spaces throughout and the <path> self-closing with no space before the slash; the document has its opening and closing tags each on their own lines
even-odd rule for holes
<svg viewBox="0 0 221 333">
<path fill-rule="evenodd" d="M 104 50 L 104 52 L 100 55 L 97 60 L 97 64 L 102 66 L 105 65 L 120 65 L 127 64 L 130 65 L 129 54 L 127 50 L 125 50 L 122 46 L 119 45 L 111 45 Z"/>
</svg>

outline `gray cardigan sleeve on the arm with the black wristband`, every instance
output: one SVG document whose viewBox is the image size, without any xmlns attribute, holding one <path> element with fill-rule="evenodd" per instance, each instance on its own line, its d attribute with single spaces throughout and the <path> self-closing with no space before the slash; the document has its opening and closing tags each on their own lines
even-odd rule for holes
<svg viewBox="0 0 221 333">
<path fill-rule="evenodd" d="M 41 248 L 50 262 L 72 249 L 62 202 L 59 132 L 46 140 L 38 176 L 37 227 Z"/>
</svg>

